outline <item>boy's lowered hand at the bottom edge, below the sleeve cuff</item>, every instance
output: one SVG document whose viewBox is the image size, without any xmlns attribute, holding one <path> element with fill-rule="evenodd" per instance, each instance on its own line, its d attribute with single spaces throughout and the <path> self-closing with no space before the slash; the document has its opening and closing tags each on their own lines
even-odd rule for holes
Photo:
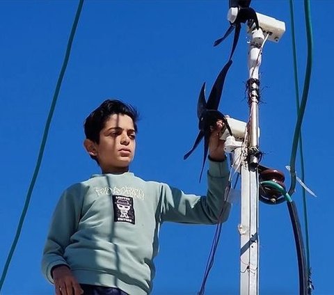
<svg viewBox="0 0 334 295">
<path fill-rule="evenodd" d="M 70 269 L 65 266 L 58 266 L 52 271 L 56 295 L 81 295 L 84 290 L 72 275 Z"/>
</svg>

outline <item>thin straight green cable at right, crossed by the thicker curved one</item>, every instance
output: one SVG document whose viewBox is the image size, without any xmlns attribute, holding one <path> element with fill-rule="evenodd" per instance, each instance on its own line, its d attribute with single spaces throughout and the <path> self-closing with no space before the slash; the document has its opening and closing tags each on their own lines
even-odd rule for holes
<svg viewBox="0 0 334 295">
<path fill-rule="evenodd" d="M 290 18 L 291 18 L 291 27 L 292 27 L 292 47 L 293 47 L 293 56 L 294 56 L 294 85 L 296 90 L 296 110 L 297 115 L 299 112 L 299 82 L 298 82 L 298 71 L 297 71 L 297 58 L 296 58 L 296 37 L 294 30 L 294 5 L 293 0 L 289 0 L 290 4 Z M 303 136 L 302 132 L 299 135 L 299 154 L 301 157 L 301 180 L 305 181 L 305 167 L 304 167 L 304 157 L 303 157 Z M 306 242 L 306 260 L 308 264 L 308 273 L 310 275 L 310 243 L 309 243 L 309 232 L 308 232 L 308 211 L 307 211 L 307 202 L 305 189 L 302 188 L 302 197 L 303 197 L 303 215 L 304 215 L 304 225 L 305 225 L 305 242 Z"/>
</svg>

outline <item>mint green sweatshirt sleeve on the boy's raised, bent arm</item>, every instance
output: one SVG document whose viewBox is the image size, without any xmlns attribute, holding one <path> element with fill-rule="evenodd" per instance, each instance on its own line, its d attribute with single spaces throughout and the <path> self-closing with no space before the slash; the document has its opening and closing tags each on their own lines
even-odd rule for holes
<svg viewBox="0 0 334 295">
<path fill-rule="evenodd" d="M 222 162 L 209 160 L 207 196 L 186 194 L 165 184 L 162 193 L 161 221 L 198 224 L 225 222 L 231 209 L 230 202 L 224 200 L 228 176 L 226 160 Z"/>
</svg>

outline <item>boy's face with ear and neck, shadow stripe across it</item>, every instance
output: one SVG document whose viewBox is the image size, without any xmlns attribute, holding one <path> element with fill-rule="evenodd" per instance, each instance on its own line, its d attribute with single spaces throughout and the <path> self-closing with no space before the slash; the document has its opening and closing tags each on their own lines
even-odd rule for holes
<svg viewBox="0 0 334 295">
<path fill-rule="evenodd" d="M 100 143 L 86 139 L 84 145 L 99 161 L 102 173 L 128 170 L 136 149 L 134 122 L 128 115 L 113 114 L 100 131 Z"/>
</svg>

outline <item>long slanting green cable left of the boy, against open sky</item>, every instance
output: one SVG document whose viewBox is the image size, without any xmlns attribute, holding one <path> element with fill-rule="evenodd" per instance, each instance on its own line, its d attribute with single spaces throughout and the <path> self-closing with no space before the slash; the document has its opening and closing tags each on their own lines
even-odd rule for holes
<svg viewBox="0 0 334 295">
<path fill-rule="evenodd" d="M 72 47 L 72 42 L 73 42 L 73 39 L 74 39 L 75 31 L 77 30 L 77 25 L 78 25 L 78 22 L 79 22 L 79 17 L 80 17 L 80 13 L 81 13 L 83 5 L 84 5 L 84 0 L 79 0 L 79 6 L 77 8 L 77 13 L 75 15 L 74 22 L 73 22 L 73 25 L 72 25 L 70 38 L 68 39 L 68 42 L 67 42 L 67 49 L 66 49 L 66 52 L 65 52 L 63 67 L 61 68 L 61 73 L 59 74 L 59 77 L 58 77 L 58 81 L 57 81 L 57 84 L 56 84 L 56 89 L 54 91 L 54 97 L 52 99 L 51 107 L 50 107 L 50 110 L 49 110 L 49 115 L 47 116 L 47 122 L 45 124 L 45 129 L 44 129 L 44 133 L 43 133 L 43 136 L 42 136 L 42 142 L 40 143 L 40 151 L 38 153 L 38 159 L 37 159 L 37 162 L 36 162 L 35 170 L 33 172 L 33 177 L 31 178 L 28 193 L 26 194 L 26 200 L 24 202 L 24 208 L 23 208 L 22 214 L 19 218 L 19 224 L 17 225 L 15 238 L 14 238 L 12 246 L 10 247 L 10 251 L 8 253 L 6 264 L 3 267 L 3 272 L 1 274 L 0 292 L 1 292 L 1 289 L 3 287 L 3 283 L 5 282 L 6 274 L 8 272 L 10 261 L 12 260 L 15 248 L 17 246 L 17 242 L 19 241 L 19 236 L 22 232 L 24 218 L 26 217 L 26 212 L 28 211 L 28 208 L 29 208 L 29 202 L 31 200 L 31 194 L 33 192 L 33 187 L 35 186 L 35 182 L 36 182 L 36 179 L 38 177 L 38 172 L 40 170 L 40 164 L 42 162 L 42 157 L 43 157 L 44 150 L 45 150 L 45 144 L 47 142 L 47 136 L 49 134 L 49 128 L 50 128 L 50 124 L 51 124 L 52 115 L 54 114 L 54 109 L 56 107 L 56 102 L 57 102 L 57 99 L 58 99 L 59 90 L 61 89 L 61 83 L 63 81 L 63 77 L 64 77 L 64 74 L 65 74 L 65 70 L 66 70 L 66 67 L 67 67 L 68 60 L 70 58 L 70 51 L 71 51 L 71 47 Z"/>
</svg>

